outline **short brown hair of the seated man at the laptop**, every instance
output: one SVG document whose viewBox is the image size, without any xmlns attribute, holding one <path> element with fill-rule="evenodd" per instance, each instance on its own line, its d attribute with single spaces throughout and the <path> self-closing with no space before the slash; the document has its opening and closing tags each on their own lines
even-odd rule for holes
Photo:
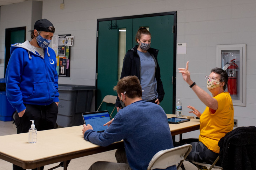
<svg viewBox="0 0 256 170">
<path fill-rule="evenodd" d="M 117 94 L 121 95 L 126 91 L 126 95 L 129 98 L 141 97 L 142 90 L 138 77 L 134 76 L 126 76 L 120 79 L 117 85 L 114 87 L 114 90 Z"/>
</svg>

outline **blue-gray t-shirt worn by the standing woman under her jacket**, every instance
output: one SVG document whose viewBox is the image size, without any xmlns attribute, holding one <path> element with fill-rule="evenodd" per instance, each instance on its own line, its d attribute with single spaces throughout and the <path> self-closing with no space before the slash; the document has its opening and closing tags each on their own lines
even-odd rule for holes
<svg viewBox="0 0 256 170">
<path fill-rule="evenodd" d="M 142 99 L 146 101 L 153 100 L 158 97 L 156 92 L 157 82 L 155 78 L 156 64 L 149 52 L 143 53 L 137 50 L 141 62 L 141 88 Z"/>
</svg>

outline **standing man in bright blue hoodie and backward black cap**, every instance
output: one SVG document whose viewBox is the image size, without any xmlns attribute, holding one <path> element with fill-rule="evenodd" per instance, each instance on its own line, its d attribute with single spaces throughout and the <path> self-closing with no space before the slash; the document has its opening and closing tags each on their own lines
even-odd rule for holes
<svg viewBox="0 0 256 170">
<path fill-rule="evenodd" d="M 34 120 L 38 131 L 53 129 L 58 114 L 56 55 L 48 47 L 55 28 L 47 19 L 35 22 L 32 40 L 11 45 L 6 69 L 6 95 L 16 109 L 17 133 L 28 132 Z M 22 169 L 16 165 L 13 169 Z"/>
</svg>

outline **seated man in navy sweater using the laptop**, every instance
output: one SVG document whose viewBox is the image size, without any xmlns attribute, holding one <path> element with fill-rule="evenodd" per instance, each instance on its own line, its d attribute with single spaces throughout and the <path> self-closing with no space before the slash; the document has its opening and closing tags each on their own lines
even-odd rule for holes
<svg viewBox="0 0 256 170">
<path fill-rule="evenodd" d="M 161 106 L 141 99 L 142 90 L 136 76 L 126 76 L 114 87 L 123 109 L 106 125 L 103 133 L 83 125 L 85 140 L 108 146 L 123 140 L 125 150 L 117 149 L 115 162 L 95 162 L 89 170 L 145 170 L 151 158 L 160 150 L 173 148 L 166 113 Z M 176 170 L 173 165 L 168 170 Z"/>
</svg>

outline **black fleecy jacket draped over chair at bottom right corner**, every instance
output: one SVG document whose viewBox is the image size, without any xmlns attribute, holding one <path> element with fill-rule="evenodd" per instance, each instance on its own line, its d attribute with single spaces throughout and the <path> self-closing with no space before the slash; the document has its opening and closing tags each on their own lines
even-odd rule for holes
<svg viewBox="0 0 256 170">
<path fill-rule="evenodd" d="M 238 127 L 218 142 L 224 170 L 256 169 L 256 127 Z"/>
</svg>

